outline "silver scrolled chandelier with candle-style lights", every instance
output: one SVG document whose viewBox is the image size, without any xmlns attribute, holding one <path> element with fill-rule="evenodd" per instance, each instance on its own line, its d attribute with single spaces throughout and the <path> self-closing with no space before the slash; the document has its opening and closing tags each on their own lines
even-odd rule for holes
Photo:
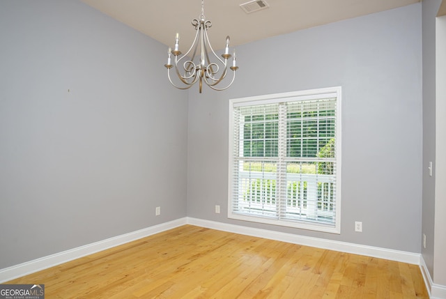
<svg viewBox="0 0 446 299">
<path fill-rule="evenodd" d="M 169 47 L 167 63 L 164 66 L 167 68 L 167 77 L 169 77 L 170 83 L 177 89 L 190 89 L 192 85 L 199 82 L 200 93 L 203 82 L 216 91 L 227 89 L 236 78 L 236 70 L 238 69 L 238 66 L 236 66 L 236 52 L 233 52 L 232 65 L 229 67 L 233 71 L 231 82 L 223 88 L 215 87 L 222 82 L 228 72 L 229 59 L 231 58 L 231 54 L 229 54 L 229 36 L 226 36 L 226 47 L 221 59 L 215 54 L 209 43 L 207 31 L 212 26 L 212 22 L 204 17 L 204 0 L 201 0 L 201 15 L 199 15 L 198 19 L 192 20 L 192 26 L 195 27 L 197 33 L 195 34 L 194 43 L 192 43 L 190 49 L 183 56 L 180 56 L 181 52 L 178 44 L 180 36 L 178 33 L 176 33 L 174 49 L 172 50 Z M 213 55 L 211 57 L 214 59 L 214 62 L 210 61 L 210 54 Z M 172 64 L 171 55 L 174 55 L 174 64 Z M 175 69 L 181 86 L 172 81 L 170 73 L 172 68 Z"/>
</svg>

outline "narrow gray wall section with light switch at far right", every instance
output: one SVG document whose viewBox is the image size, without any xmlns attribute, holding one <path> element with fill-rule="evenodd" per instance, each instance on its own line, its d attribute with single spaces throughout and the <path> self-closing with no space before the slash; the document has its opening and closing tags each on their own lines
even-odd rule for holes
<svg viewBox="0 0 446 299">
<path fill-rule="evenodd" d="M 426 235 L 423 259 L 433 277 L 433 245 L 435 220 L 436 171 L 436 15 L 441 0 L 422 2 L 423 47 L 423 214 L 422 233 Z M 433 162 L 433 176 L 429 176 L 429 162 Z"/>
</svg>

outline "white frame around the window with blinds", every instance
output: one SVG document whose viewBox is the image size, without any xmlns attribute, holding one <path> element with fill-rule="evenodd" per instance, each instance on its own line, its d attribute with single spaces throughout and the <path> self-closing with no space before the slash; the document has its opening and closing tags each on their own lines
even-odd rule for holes
<svg viewBox="0 0 446 299">
<path fill-rule="evenodd" d="M 334 225 L 310 222 L 305 220 L 277 220 L 261 215 L 245 215 L 233 211 L 233 171 L 234 171 L 234 108 L 243 106 L 268 105 L 281 102 L 295 102 L 306 100 L 321 100 L 324 98 L 336 98 L 336 196 L 334 199 Z M 265 158 L 266 160 L 268 158 Z M 327 233 L 341 233 L 341 86 L 310 89 L 305 91 L 293 91 L 289 93 L 275 93 L 270 95 L 258 95 L 247 98 L 235 98 L 229 100 L 229 184 L 228 184 L 228 218 L 263 224 L 273 224 L 298 229 L 308 229 Z"/>
</svg>

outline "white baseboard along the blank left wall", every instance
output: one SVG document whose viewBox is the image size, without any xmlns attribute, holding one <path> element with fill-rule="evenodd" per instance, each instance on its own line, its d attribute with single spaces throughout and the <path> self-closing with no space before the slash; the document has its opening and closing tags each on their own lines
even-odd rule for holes
<svg viewBox="0 0 446 299">
<path fill-rule="evenodd" d="M 162 231 L 174 229 L 186 223 L 187 223 L 186 218 L 180 218 L 178 220 L 173 220 L 171 222 L 157 224 L 153 227 L 148 227 L 146 229 L 140 229 L 138 231 L 125 233 L 121 236 L 116 236 L 95 243 L 91 243 L 88 245 L 76 247 L 71 250 L 66 250 L 64 252 L 59 252 L 49 256 L 44 256 L 40 259 L 35 259 L 33 261 L 26 261 L 25 263 L 20 263 L 15 266 L 3 268 L 0 269 L 0 283 L 7 282 L 11 279 L 35 273 L 37 271 L 44 270 L 53 266 L 57 266 L 60 265 L 61 263 L 72 261 L 73 259 L 79 259 L 82 256 L 93 254 L 95 252 L 100 252 L 102 250 L 107 250 L 109 248 L 116 247 L 118 245 L 123 245 L 125 243 L 138 240 L 140 238 L 151 236 L 155 233 L 161 233 Z"/>
</svg>

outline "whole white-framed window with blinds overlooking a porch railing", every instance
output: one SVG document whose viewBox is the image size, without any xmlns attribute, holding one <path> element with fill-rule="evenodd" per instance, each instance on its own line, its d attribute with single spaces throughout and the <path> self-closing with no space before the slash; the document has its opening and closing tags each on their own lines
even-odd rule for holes
<svg viewBox="0 0 446 299">
<path fill-rule="evenodd" d="M 230 100 L 229 217 L 340 233 L 341 87 Z"/>
</svg>

